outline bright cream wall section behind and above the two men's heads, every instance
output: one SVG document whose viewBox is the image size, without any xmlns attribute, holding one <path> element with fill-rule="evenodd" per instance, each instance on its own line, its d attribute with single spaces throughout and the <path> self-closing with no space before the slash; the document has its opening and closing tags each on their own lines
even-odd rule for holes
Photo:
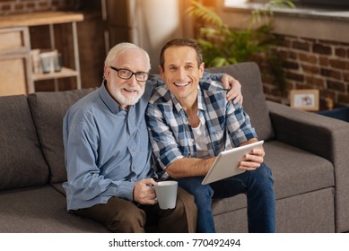
<svg viewBox="0 0 349 251">
<path fill-rule="evenodd" d="M 185 16 L 186 0 L 130 0 L 132 42 L 151 57 L 152 73 L 158 73 L 161 47 L 170 39 L 192 37 Z"/>
</svg>

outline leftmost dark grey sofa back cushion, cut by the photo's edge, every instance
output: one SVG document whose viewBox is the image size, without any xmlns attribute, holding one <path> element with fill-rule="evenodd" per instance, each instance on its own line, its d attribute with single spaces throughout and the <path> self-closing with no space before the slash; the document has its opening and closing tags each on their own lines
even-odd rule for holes
<svg viewBox="0 0 349 251">
<path fill-rule="evenodd" d="M 27 97 L 0 97 L 0 190 L 48 184 Z"/>
</svg>

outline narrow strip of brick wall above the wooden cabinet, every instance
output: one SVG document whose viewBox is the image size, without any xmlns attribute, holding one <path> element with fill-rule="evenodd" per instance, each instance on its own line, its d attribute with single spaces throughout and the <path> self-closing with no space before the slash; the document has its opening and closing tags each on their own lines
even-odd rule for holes
<svg viewBox="0 0 349 251">
<path fill-rule="evenodd" d="M 0 0 L 0 15 L 39 11 L 70 10 L 79 1 L 72 0 Z"/>
</svg>

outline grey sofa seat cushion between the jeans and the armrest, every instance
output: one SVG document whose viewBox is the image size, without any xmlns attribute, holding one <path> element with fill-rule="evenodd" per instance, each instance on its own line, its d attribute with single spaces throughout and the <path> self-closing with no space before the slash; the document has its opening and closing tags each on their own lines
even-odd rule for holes
<svg viewBox="0 0 349 251">
<path fill-rule="evenodd" d="M 277 141 L 267 142 L 264 147 L 265 163 L 273 171 L 277 199 L 335 186 L 330 161 Z"/>
</svg>

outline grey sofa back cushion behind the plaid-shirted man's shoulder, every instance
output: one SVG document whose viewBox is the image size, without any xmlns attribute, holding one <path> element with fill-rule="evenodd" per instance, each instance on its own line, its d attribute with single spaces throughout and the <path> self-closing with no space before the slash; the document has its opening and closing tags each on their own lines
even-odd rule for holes
<svg viewBox="0 0 349 251">
<path fill-rule="evenodd" d="M 251 118 L 259 140 L 268 140 L 274 136 L 269 111 L 266 107 L 266 97 L 263 92 L 263 83 L 259 67 L 256 63 L 247 62 L 236 65 L 208 68 L 211 73 L 230 74 L 237 79 L 242 88 L 243 108 Z"/>
</svg>

